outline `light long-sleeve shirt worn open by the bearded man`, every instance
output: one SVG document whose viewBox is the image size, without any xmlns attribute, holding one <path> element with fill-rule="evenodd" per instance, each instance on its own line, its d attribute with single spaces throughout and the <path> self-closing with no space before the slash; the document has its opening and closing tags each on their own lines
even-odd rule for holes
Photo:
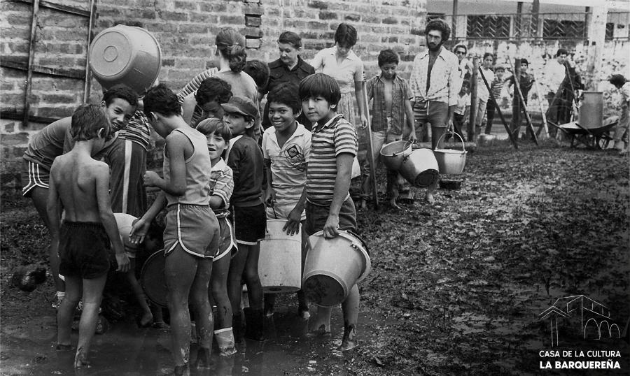
<svg viewBox="0 0 630 376">
<path fill-rule="evenodd" d="M 425 101 L 444 102 L 449 106 L 455 106 L 461 89 L 457 57 L 453 52 L 442 47 L 440 55 L 437 55 L 435 64 L 431 68 L 430 87 L 427 89 L 428 62 L 428 50 L 414 59 L 412 74 L 409 78 L 409 89 L 413 96 Z"/>
</svg>

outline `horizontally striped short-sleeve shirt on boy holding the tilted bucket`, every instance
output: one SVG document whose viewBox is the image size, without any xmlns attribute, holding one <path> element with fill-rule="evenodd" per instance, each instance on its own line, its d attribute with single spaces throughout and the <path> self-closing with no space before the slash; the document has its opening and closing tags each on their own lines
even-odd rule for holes
<svg viewBox="0 0 630 376">
<path fill-rule="evenodd" d="M 337 178 L 337 156 L 349 153 L 354 157 L 357 150 L 356 130 L 343 115 L 336 115 L 323 125 L 314 124 L 306 183 L 309 202 L 316 205 L 332 203 Z"/>
</svg>

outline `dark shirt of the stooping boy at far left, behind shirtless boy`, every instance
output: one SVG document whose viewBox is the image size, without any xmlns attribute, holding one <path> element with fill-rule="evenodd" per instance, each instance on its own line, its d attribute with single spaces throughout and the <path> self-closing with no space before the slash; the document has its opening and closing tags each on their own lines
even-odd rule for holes
<svg viewBox="0 0 630 376">
<path fill-rule="evenodd" d="M 52 161 L 64 152 L 66 133 L 70 133 L 72 118 L 64 117 L 43 127 L 29 140 L 23 158 L 50 170 Z"/>
</svg>

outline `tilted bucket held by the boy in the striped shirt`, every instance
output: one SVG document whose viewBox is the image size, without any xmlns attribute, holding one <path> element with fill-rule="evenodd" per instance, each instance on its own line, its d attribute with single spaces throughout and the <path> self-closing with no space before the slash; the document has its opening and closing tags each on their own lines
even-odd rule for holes
<svg viewBox="0 0 630 376">
<path fill-rule="evenodd" d="M 302 289 L 316 305 L 332 307 L 346 300 L 350 289 L 370 273 L 367 246 L 349 231 L 326 239 L 323 231 L 309 237 Z"/>
</svg>

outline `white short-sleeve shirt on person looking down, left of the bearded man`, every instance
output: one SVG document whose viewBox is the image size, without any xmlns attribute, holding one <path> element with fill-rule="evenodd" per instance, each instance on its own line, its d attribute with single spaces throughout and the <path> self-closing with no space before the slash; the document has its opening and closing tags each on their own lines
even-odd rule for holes
<svg viewBox="0 0 630 376">
<path fill-rule="evenodd" d="M 337 64 L 337 46 L 324 48 L 311 61 L 315 71 L 330 75 L 339 84 L 342 94 L 354 91 L 354 82 L 363 82 L 363 62 L 350 50 Z"/>
</svg>

